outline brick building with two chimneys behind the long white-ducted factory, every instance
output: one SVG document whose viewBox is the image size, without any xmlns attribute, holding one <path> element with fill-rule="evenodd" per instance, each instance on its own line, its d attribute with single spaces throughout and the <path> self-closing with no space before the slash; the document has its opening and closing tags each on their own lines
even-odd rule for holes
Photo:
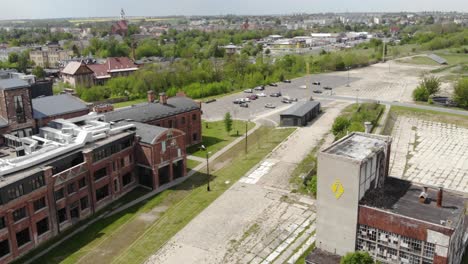
<svg viewBox="0 0 468 264">
<path fill-rule="evenodd" d="M 168 98 L 161 93 L 159 100 L 153 91 L 148 92 L 148 102 L 117 109 L 104 114 L 105 121 L 132 120 L 140 123 L 177 128 L 185 133 L 187 146 L 201 143 L 201 105 L 184 94 Z"/>
</svg>

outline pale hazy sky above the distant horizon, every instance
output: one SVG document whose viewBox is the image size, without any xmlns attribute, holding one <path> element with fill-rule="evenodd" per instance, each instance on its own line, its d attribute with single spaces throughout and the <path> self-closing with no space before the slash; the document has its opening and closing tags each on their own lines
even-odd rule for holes
<svg viewBox="0 0 468 264">
<path fill-rule="evenodd" d="M 0 0 L 0 19 L 320 12 L 468 12 L 467 0 Z"/>
</svg>

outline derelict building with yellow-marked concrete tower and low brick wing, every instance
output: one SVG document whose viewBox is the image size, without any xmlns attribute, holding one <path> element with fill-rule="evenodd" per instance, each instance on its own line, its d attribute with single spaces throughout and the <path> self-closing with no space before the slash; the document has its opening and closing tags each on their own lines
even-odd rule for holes
<svg viewBox="0 0 468 264">
<path fill-rule="evenodd" d="M 353 133 L 319 153 L 317 247 L 367 251 L 381 263 L 459 264 L 466 194 L 388 177 L 390 146 L 390 137 Z"/>
</svg>

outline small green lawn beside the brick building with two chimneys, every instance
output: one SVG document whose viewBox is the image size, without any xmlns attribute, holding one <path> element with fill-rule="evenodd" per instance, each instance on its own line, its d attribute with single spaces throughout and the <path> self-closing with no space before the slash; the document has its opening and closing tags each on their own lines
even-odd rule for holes
<svg viewBox="0 0 468 264">
<path fill-rule="evenodd" d="M 202 121 L 202 143 L 189 147 L 187 149 L 187 153 L 204 158 L 206 157 L 206 152 L 200 149 L 200 146 L 204 145 L 208 151 L 211 152 L 210 155 L 215 154 L 229 143 L 234 141 L 236 138 L 244 135 L 246 123 L 246 121 L 233 120 L 232 131 L 228 134 L 224 127 L 223 121 Z M 254 127 L 255 123 L 250 122 L 248 124 L 248 130 Z M 237 136 L 237 130 L 239 130 L 239 136 Z"/>
</svg>

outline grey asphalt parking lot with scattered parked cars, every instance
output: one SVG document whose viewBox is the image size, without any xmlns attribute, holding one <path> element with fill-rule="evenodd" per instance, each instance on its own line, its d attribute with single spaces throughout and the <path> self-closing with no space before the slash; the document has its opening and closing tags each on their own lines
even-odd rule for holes
<svg viewBox="0 0 468 264">
<path fill-rule="evenodd" d="M 350 83 L 357 81 L 358 78 L 350 78 Z M 312 85 L 312 82 L 319 81 L 321 85 Z M 309 83 L 305 89 L 306 83 Z M 308 77 L 301 77 L 291 80 L 291 83 L 277 83 L 277 87 L 265 86 L 263 91 L 253 91 L 253 93 L 236 93 L 219 98 L 217 101 L 203 104 L 203 118 L 206 120 L 221 120 L 225 113 L 230 112 L 234 119 L 251 119 L 260 122 L 269 122 L 277 125 L 279 123 L 279 115 L 293 104 L 282 103 L 283 96 L 297 98 L 298 100 L 307 100 L 311 96 L 314 97 L 314 90 L 321 90 L 322 94 L 330 94 L 330 91 L 324 90 L 323 87 L 339 87 L 346 86 L 348 83 L 347 76 L 339 76 L 335 74 L 317 74 Z M 280 92 L 280 97 L 270 97 L 270 94 Z M 252 100 L 248 103 L 248 108 L 240 107 L 239 104 L 234 104 L 233 101 L 239 98 L 245 98 L 252 94 L 265 93 L 266 97 L 259 97 L 257 100 Z M 331 100 L 317 99 L 326 107 Z M 265 104 L 272 104 L 276 108 L 269 109 Z"/>
</svg>

